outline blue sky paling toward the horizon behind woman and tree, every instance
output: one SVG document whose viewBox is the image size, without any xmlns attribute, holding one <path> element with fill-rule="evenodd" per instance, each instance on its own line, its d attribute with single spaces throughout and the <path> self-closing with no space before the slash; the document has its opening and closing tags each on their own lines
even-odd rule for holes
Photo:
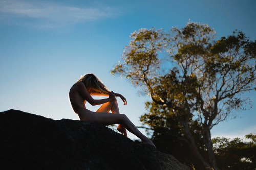
<svg viewBox="0 0 256 170">
<path fill-rule="evenodd" d="M 182 28 L 206 23 L 217 36 L 240 30 L 256 39 L 256 1 L 37 1 L 0 0 L 0 111 L 22 110 L 53 119 L 77 120 L 68 93 L 77 79 L 94 73 L 127 100 L 119 109 L 136 126 L 148 96 L 110 70 L 121 60 L 130 35 L 141 28 Z M 211 130 L 212 137 L 256 133 L 256 92 L 243 94 L 252 108 L 234 112 Z M 95 97 L 95 99 L 99 99 Z M 101 98 L 103 99 L 103 98 Z M 86 104 L 88 109 L 97 106 Z M 144 130 L 140 129 L 144 134 Z M 138 139 L 128 133 L 131 139 Z"/>
</svg>

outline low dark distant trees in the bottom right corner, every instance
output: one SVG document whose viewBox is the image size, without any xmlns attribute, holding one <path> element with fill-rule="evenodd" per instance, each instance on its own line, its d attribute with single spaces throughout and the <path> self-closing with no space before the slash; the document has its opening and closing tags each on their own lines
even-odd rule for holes
<svg viewBox="0 0 256 170">
<path fill-rule="evenodd" d="M 214 152 L 220 169 L 251 170 L 256 169 L 256 134 L 245 136 L 251 139 L 244 142 L 239 138 L 214 138 Z"/>
</svg>

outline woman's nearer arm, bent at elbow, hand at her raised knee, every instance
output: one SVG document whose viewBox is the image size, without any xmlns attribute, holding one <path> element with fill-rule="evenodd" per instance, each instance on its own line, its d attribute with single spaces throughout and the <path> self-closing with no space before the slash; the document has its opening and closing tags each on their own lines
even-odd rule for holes
<svg viewBox="0 0 256 170">
<path fill-rule="evenodd" d="M 115 99 L 114 92 L 110 93 L 109 98 L 107 98 L 107 99 L 99 99 L 99 100 L 93 99 L 92 96 L 90 95 L 90 93 L 87 91 L 86 86 L 84 86 L 84 84 L 82 82 L 76 83 L 76 90 L 81 95 L 81 97 L 84 100 L 88 101 L 92 106 L 101 105 L 103 103 L 110 102 Z"/>
</svg>

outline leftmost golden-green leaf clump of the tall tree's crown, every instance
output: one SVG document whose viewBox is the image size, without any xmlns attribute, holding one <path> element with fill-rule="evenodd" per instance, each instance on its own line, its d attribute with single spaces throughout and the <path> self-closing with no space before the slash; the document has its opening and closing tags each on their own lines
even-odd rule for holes
<svg viewBox="0 0 256 170">
<path fill-rule="evenodd" d="M 131 38 L 133 40 L 124 48 L 123 63 L 116 64 L 111 73 L 129 78 L 137 86 L 144 81 L 143 75 L 148 75 L 152 79 L 156 76 L 155 70 L 159 69 L 160 62 L 157 57 L 158 51 L 162 48 L 165 38 L 161 30 L 154 28 L 135 31 Z"/>
</svg>

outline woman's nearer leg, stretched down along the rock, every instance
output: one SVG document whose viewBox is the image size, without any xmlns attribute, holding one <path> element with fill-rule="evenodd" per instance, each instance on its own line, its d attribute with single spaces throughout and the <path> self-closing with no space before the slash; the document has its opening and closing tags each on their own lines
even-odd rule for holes
<svg viewBox="0 0 256 170">
<path fill-rule="evenodd" d="M 86 120 L 88 122 L 95 122 L 103 125 L 122 124 L 128 131 L 140 138 L 143 144 L 151 144 L 155 147 L 154 143 L 143 135 L 125 114 L 92 112 L 84 109 L 78 115 L 81 120 Z"/>
</svg>

